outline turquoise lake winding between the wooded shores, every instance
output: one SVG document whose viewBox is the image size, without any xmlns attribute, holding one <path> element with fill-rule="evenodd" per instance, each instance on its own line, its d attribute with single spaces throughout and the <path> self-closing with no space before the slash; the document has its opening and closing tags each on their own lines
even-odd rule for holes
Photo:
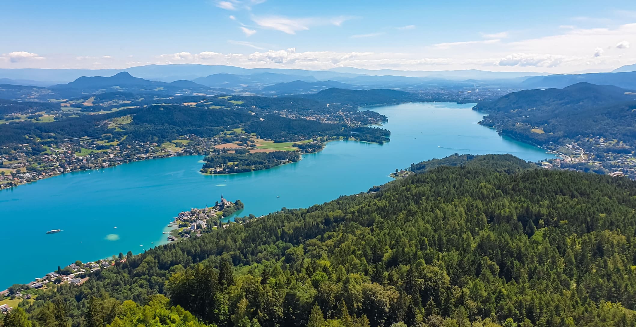
<svg viewBox="0 0 636 327">
<path fill-rule="evenodd" d="M 308 207 L 392 180 L 411 163 L 460 154 L 504 154 L 537 161 L 546 151 L 476 124 L 473 105 L 408 103 L 373 107 L 389 118 L 391 142 L 329 142 L 298 163 L 234 175 L 201 175 L 203 158 L 181 156 L 79 171 L 0 191 L 4 258 L 0 289 L 57 266 L 93 261 L 165 243 L 179 212 L 212 206 L 221 193 L 240 199 L 240 215 Z M 279 198 L 280 197 L 280 198 Z M 114 227 L 117 228 L 114 228 Z M 62 232 L 46 235 L 50 229 Z"/>
</svg>

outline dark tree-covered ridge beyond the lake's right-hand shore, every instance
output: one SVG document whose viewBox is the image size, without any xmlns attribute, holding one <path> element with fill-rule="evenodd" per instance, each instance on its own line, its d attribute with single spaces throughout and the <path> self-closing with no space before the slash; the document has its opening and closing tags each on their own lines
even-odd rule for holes
<svg viewBox="0 0 636 327">
<path fill-rule="evenodd" d="M 602 136 L 634 145 L 636 94 L 611 85 L 579 83 L 563 89 L 524 90 L 485 101 L 481 124 L 543 147 L 558 147 L 581 136 Z"/>
</svg>

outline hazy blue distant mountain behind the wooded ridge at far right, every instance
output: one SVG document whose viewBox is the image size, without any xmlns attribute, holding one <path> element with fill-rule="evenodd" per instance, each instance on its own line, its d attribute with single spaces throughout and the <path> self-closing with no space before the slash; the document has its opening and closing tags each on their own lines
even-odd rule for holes
<svg viewBox="0 0 636 327">
<path fill-rule="evenodd" d="M 527 78 L 520 85 L 523 88 L 539 89 L 555 87 L 562 89 L 568 85 L 587 82 L 598 85 L 615 85 L 624 89 L 636 89 L 636 71 L 623 73 L 588 73 L 577 75 L 548 75 Z"/>
</svg>

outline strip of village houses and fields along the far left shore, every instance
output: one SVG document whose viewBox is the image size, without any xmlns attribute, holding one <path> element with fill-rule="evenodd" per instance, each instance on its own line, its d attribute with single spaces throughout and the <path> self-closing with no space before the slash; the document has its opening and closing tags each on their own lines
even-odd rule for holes
<svg viewBox="0 0 636 327">
<path fill-rule="evenodd" d="M 214 138 L 200 138 L 194 134 L 182 136 L 179 140 L 162 144 L 134 142 L 132 145 L 118 145 L 121 140 L 99 143 L 90 138 L 68 140 L 55 145 L 20 145 L 9 154 L 0 152 L 0 189 L 14 187 L 39 179 L 53 177 L 71 171 L 95 170 L 145 159 L 173 156 L 203 156 L 211 152 L 233 153 L 235 149 L 251 149 L 250 152 L 273 152 L 277 149 L 273 141 L 254 142 L 255 136 L 242 131 L 230 131 Z M 302 142 L 303 148 L 308 147 Z M 270 144 L 271 143 L 271 144 Z M 314 145 L 315 143 L 315 145 Z M 315 152 L 322 149 L 322 143 L 312 142 L 312 149 L 286 149 L 300 152 Z M 269 147 L 271 149 L 261 149 Z"/>
</svg>

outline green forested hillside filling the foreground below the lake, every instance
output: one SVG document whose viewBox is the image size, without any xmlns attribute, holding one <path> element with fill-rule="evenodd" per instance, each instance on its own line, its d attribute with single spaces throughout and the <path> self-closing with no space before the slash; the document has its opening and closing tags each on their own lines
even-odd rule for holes
<svg viewBox="0 0 636 327">
<path fill-rule="evenodd" d="M 635 182 L 475 156 L 377 189 L 128 254 L 24 309 L 39 326 L 197 326 L 181 308 L 216 326 L 635 326 Z"/>
</svg>

